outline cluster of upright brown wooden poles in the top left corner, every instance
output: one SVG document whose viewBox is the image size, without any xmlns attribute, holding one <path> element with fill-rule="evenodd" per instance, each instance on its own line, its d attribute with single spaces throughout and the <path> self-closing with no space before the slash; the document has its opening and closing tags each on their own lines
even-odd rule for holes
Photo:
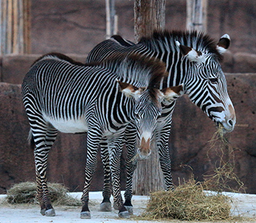
<svg viewBox="0 0 256 223">
<path fill-rule="evenodd" d="M 0 0 L 0 55 L 31 52 L 31 0 Z"/>
</svg>

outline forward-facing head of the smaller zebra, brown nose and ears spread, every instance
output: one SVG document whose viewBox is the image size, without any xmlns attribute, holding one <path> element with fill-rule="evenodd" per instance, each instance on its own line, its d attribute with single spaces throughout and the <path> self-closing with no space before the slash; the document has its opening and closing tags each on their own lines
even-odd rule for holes
<svg viewBox="0 0 256 223">
<path fill-rule="evenodd" d="M 140 159 L 146 159 L 151 154 L 157 119 L 162 114 L 161 102 L 165 99 L 171 103 L 178 99 L 182 95 L 183 85 L 159 90 L 154 87 L 135 87 L 123 82 L 118 83 L 122 93 L 135 99 L 134 119 L 138 133 L 138 155 Z"/>
</svg>

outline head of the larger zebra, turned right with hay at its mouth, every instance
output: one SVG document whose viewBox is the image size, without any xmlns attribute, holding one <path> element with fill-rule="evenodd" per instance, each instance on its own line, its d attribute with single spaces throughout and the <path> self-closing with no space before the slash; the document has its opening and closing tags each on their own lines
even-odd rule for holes
<svg viewBox="0 0 256 223">
<path fill-rule="evenodd" d="M 195 50 L 176 42 L 184 59 L 189 60 L 187 78 L 184 79 L 184 93 L 200 107 L 223 133 L 231 132 L 236 124 L 236 113 L 227 93 L 227 82 L 220 66 L 220 58 L 230 45 L 225 34 L 214 45 L 214 50 Z"/>
</svg>

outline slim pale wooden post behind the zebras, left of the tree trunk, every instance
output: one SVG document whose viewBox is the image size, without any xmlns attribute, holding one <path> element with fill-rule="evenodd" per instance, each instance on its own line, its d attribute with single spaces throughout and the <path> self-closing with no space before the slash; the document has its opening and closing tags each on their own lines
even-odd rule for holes
<svg viewBox="0 0 256 223">
<path fill-rule="evenodd" d="M 118 16 L 115 10 L 115 0 L 106 0 L 106 39 L 118 32 Z"/>
</svg>

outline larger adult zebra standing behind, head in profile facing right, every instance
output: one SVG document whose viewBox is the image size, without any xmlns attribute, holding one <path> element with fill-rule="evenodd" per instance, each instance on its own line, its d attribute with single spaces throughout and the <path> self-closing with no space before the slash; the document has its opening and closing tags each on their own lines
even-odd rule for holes
<svg viewBox="0 0 256 223">
<path fill-rule="evenodd" d="M 222 125 L 223 131 L 231 132 L 236 124 L 236 114 L 227 94 L 226 79 L 220 66 L 222 54 L 229 45 L 230 37 L 227 34 L 215 43 L 209 36 L 196 31 L 154 31 L 152 36 L 143 37 L 138 44 L 133 44 L 121 36 L 113 36 L 97 44 L 89 53 L 87 62 L 105 60 L 113 53 L 129 55 L 140 52 L 148 58 L 159 58 L 166 63 L 168 72 L 167 82 L 162 82 L 160 87 L 183 84 L 184 94 L 189 96 L 192 103 L 199 106 L 217 125 Z M 156 133 L 159 161 L 167 189 L 173 187 L 168 138 L 175 103 L 173 101 L 167 104 L 162 101 L 162 116 L 158 120 Z M 136 151 L 132 123 L 127 127 L 126 137 L 127 187 L 124 205 L 132 212 L 132 175 L 137 165 L 133 159 Z M 102 160 L 104 165 L 108 165 L 108 154 L 102 154 Z M 102 203 L 110 203 L 109 178 L 110 173 L 105 173 Z"/>
</svg>

